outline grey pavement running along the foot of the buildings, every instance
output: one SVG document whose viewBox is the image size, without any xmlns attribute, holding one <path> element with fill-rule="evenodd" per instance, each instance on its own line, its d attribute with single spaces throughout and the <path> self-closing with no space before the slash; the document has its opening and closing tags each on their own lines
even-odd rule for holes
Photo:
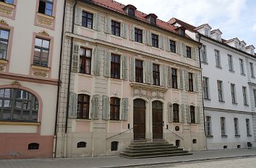
<svg viewBox="0 0 256 168">
<path fill-rule="evenodd" d="M 205 162 L 220 159 L 256 157 L 256 149 L 226 149 L 218 151 L 195 151 L 189 156 L 171 156 L 148 159 L 126 159 L 119 156 L 59 158 L 59 159 L 9 159 L 0 160 L 0 168 L 114 168 L 138 166 L 162 166 Z M 256 158 L 254 158 L 256 159 Z M 256 166 L 255 166 L 256 167 Z"/>
</svg>

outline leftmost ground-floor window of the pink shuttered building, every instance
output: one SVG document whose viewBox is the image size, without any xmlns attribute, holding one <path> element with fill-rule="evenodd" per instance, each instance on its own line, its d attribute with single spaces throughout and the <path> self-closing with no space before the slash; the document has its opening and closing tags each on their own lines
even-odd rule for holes
<svg viewBox="0 0 256 168">
<path fill-rule="evenodd" d="M 77 118 L 89 118 L 90 96 L 78 94 L 77 96 Z"/>
</svg>

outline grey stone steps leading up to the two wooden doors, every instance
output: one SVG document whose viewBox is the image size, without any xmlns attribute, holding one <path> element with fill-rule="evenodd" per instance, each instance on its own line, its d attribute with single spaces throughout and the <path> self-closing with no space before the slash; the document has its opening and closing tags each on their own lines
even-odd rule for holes
<svg viewBox="0 0 256 168">
<path fill-rule="evenodd" d="M 166 157 L 166 156 L 184 156 L 191 155 L 178 146 L 167 141 L 134 141 L 126 150 L 120 153 L 121 157 L 129 159 Z"/>
</svg>

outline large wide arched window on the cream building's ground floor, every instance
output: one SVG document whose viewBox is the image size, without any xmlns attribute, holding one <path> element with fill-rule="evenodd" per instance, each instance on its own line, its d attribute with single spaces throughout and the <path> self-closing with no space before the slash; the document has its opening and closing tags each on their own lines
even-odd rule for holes
<svg viewBox="0 0 256 168">
<path fill-rule="evenodd" d="M 38 122 L 38 100 L 22 89 L 0 89 L 0 120 Z"/>
</svg>

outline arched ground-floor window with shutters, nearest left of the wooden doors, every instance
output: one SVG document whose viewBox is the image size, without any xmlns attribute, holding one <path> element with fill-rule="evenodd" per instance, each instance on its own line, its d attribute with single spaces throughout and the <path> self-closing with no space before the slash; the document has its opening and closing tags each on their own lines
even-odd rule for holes
<svg viewBox="0 0 256 168">
<path fill-rule="evenodd" d="M 120 99 L 110 98 L 110 120 L 119 120 Z"/>
</svg>

